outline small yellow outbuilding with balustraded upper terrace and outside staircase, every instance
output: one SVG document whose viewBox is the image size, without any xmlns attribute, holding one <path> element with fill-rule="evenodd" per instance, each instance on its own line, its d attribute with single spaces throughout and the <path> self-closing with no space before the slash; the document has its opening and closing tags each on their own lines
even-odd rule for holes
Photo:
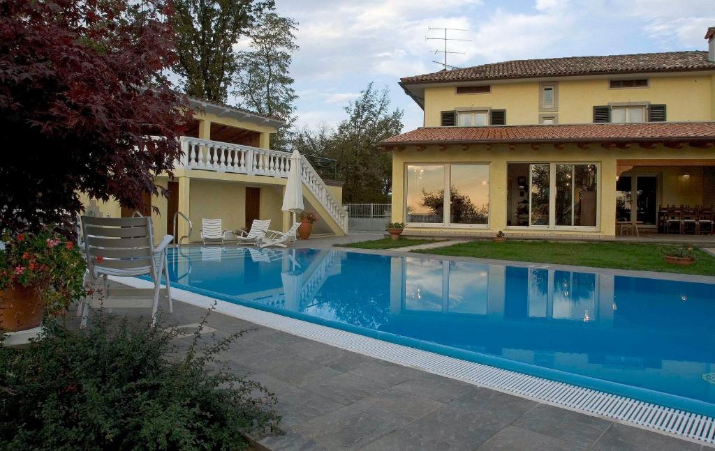
<svg viewBox="0 0 715 451">
<path fill-rule="evenodd" d="M 270 219 L 273 230 L 290 228 L 292 217 L 281 211 L 290 153 L 269 148 L 270 135 L 285 122 L 240 108 L 189 100 L 198 112 L 187 136 L 180 138 L 184 155 L 175 164 L 173 179 L 165 173 L 156 177 L 157 185 L 169 189 L 169 198 L 145 200 L 159 213 L 148 207 L 139 212 L 152 215 L 154 235 L 174 234 L 175 226 L 177 241 L 199 241 L 202 218 L 221 218 L 226 230 L 248 228 L 254 219 Z M 340 184 L 323 181 L 305 157 L 301 175 L 305 208 L 320 218 L 314 233 L 347 233 Z M 98 203 L 84 196 L 83 203 L 89 215 L 119 218 L 137 214 L 116 201 Z"/>
</svg>

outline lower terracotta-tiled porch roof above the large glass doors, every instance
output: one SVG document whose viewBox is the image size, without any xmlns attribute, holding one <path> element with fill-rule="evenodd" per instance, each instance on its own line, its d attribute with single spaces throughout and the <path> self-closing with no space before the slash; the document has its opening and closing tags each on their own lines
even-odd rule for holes
<svg viewBox="0 0 715 451">
<path fill-rule="evenodd" d="M 385 139 L 380 146 L 526 143 L 715 143 L 715 122 L 575 123 L 534 126 L 420 127 Z"/>
</svg>

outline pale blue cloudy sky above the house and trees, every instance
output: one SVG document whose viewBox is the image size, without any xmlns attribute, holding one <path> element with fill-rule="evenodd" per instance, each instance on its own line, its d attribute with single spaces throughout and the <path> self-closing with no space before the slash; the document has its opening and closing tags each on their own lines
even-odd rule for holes
<svg viewBox="0 0 715 451">
<path fill-rule="evenodd" d="M 441 41 L 428 28 L 454 28 L 449 64 L 511 59 L 706 50 L 715 26 L 713 0 L 277 0 L 295 19 L 291 76 L 297 125 L 335 126 L 343 108 L 375 83 L 405 111 L 404 131 L 422 125 L 422 110 L 400 77 L 440 70 Z M 443 32 L 442 32 L 443 33 Z"/>
</svg>

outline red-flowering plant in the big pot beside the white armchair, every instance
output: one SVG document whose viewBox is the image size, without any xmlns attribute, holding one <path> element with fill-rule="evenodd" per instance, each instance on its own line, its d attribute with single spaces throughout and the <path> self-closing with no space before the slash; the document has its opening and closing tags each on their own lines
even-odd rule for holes
<svg viewBox="0 0 715 451">
<path fill-rule="evenodd" d="M 4 236 L 3 241 L 0 290 L 33 288 L 49 316 L 61 314 L 84 295 L 84 258 L 74 243 L 53 228 Z"/>
</svg>

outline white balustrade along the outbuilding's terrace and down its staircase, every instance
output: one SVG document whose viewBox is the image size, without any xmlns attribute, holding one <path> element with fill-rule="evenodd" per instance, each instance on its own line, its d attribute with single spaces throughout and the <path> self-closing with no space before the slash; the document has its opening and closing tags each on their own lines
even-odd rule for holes
<svg viewBox="0 0 715 451">
<path fill-rule="evenodd" d="M 184 156 L 177 167 L 281 178 L 287 178 L 290 173 L 288 152 L 189 136 L 181 137 L 181 146 Z M 332 220 L 347 232 L 347 211 L 305 157 L 302 157 L 300 173 L 303 184 L 330 214 Z"/>
</svg>

